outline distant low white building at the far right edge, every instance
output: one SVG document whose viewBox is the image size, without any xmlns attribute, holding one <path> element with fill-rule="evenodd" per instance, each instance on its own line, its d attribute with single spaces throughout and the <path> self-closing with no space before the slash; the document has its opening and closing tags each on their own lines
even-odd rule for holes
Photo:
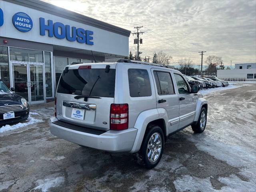
<svg viewBox="0 0 256 192">
<path fill-rule="evenodd" d="M 235 69 L 217 70 L 217 77 L 229 81 L 256 81 L 256 63 L 235 64 Z"/>
</svg>

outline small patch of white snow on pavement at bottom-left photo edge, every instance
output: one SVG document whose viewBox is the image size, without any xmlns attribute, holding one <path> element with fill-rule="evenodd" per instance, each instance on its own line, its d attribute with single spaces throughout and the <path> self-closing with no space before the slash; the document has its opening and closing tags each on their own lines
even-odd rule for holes
<svg viewBox="0 0 256 192">
<path fill-rule="evenodd" d="M 59 173 L 52 174 L 45 179 L 39 179 L 36 181 L 38 184 L 33 190 L 41 190 L 47 192 L 52 187 L 60 186 L 64 182 L 64 177 L 60 176 Z"/>
</svg>

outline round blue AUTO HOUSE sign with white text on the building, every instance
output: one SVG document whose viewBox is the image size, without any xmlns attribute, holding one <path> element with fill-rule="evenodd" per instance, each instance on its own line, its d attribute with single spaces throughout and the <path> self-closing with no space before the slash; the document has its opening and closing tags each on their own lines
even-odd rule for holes
<svg viewBox="0 0 256 192">
<path fill-rule="evenodd" d="M 12 24 L 21 32 L 28 32 L 33 27 L 30 16 L 24 12 L 18 12 L 12 16 Z"/>
</svg>

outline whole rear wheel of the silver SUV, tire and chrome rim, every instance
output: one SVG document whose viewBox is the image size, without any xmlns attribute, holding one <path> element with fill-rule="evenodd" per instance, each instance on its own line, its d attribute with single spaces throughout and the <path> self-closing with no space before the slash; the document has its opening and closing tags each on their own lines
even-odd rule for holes
<svg viewBox="0 0 256 192">
<path fill-rule="evenodd" d="M 136 162 L 146 166 L 155 167 L 164 151 L 164 133 L 160 126 L 151 125 L 148 127 L 143 138 L 140 151 L 134 154 Z"/>
</svg>

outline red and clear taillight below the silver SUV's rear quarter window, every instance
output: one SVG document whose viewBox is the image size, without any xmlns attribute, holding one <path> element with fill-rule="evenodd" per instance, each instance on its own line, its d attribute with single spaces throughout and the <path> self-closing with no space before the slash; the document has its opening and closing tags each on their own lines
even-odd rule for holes
<svg viewBox="0 0 256 192">
<path fill-rule="evenodd" d="M 110 129 L 128 129 L 128 104 L 110 105 Z"/>
</svg>

